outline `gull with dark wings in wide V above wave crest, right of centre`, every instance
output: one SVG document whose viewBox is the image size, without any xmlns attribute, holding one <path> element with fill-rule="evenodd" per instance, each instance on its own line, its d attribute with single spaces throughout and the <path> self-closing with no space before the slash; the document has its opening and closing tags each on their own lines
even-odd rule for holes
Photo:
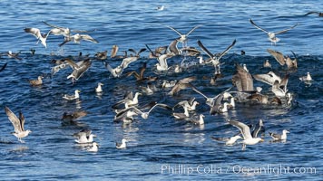
<svg viewBox="0 0 323 181">
<path fill-rule="evenodd" d="M 236 42 L 237 41 L 234 40 L 230 44 L 230 46 L 228 46 L 227 49 L 224 50 L 223 52 L 220 52 L 220 54 L 217 54 L 217 53 L 213 54 L 201 43 L 200 40 L 198 41 L 198 45 L 201 47 L 202 51 L 205 52 L 210 57 L 210 61 L 208 62 L 211 62 L 213 64 L 215 68 L 214 74 L 220 74 L 220 59 L 222 58 L 223 55 L 225 55 L 227 52 L 230 51 L 230 49 L 234 46 Z M 208 62 L 205 62 L 205 63 L 208 63 Z"/>
</svg>

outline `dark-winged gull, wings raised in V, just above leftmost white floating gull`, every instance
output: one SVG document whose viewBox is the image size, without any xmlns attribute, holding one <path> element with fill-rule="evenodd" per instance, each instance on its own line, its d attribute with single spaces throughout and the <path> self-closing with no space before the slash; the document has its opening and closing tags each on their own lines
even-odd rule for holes
<svg viewBox="0 0 323 181">
<path fill-rule="evenodd" d="M 71 59 L 65 59 L 65 62 L 67 62 L 73 69 L 72 73 L 67 76 L 67 79 L 72 78 L 72 82 L 77 81 L 85 71 L 87 71 L 91 67 L 91 60 L 86 59 L 81 62 L 73 62 Z"/>
</svg>

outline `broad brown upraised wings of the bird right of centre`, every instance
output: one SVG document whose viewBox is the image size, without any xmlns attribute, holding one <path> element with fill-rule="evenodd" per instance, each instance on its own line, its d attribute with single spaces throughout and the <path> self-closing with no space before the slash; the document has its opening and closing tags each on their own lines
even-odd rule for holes
<svg viewBox="0 0 323 181">
<path fill-rule="evenodd" d="M 240 64 L 236 63 L 237 73 L 232 77 L 232 83 L 238 91 L 253 91 L 253 80 L 249 71 L 243 69 Z"/>
</svg>

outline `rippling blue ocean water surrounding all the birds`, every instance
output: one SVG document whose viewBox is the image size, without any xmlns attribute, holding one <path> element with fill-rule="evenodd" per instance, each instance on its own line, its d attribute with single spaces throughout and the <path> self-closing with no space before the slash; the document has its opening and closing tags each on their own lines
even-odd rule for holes
<svg viewBox="0 0 323 181">
<path fill-rule="evenodd" d="M 2 126 L 0 143 L 0 174 L 2 180 L 117 180 L 117 179 L 226 179 L 226 180 L 320 180 L 322 174 L 321 126 L 323 102 L 322 79 L 322 21 L 318 14 L 323 5 L 318 1 L 1 1 L 0 52 L 19 52 L 20 61 L 2 54 L 0 65 L 7 63 L 0 72 L 0 106 L 9 107 L 16 114 L 22 110 L 25 129 L 33 132 L 19 143 L 11 135 L 13 126 L 0 111 Z M 157 6 L 164 5 L 163 11 Z M 259 26 L 277 32 L 293 24 L 299 24 L 272 45 L 266 33 L 252 26 L 249 19 Z M 95 30 L 89 34 L 99 43 L 66 43 L 61 36 L 50 35 L 47 48 L 36 44 L 33 35 L 24 33 L 25 27 L 37 27 L 47 33 L 50 27 L 42 21 L 71 30 Z M 289 72 L 288 89 L 294 95 L 291 107 L 266 107 L 237 103 L 236 110 L 227 114 L 210 115 L 209 107 L 200 94 L 191 89 L 181 90 L 174 96 L 169 90 L 159 90 L 153 95 L 143 94 L 140 103 L 152 100 L 175 105 L 180 100 L 195 97 L 200 102 L 196 114 L 205 115 L 205 125 L 195 126 L 175 120 L 171 111 L 152 110 L 148 119 L 136 117 L 130 125 L 113 122 L 112 105 L 122 100 L 127 90 L 139 91 L 133 77 L 116 79 L 104 68 L 103 62 L 93 62 L 91 68 L 75 83 L 66 79 L 72 69 L 51 76 L 53 59 L 76 56 L 79 52 L 94 56 L 96 52 L 110 52 L 113 44 L 120 47 L 119 54 L 129 48 L 140 50 L 145 43 L 152 48 L 168 45 L 178 34 L 164 25 L 171 25 L 181 33 L 187 33 L 201 24 L 189 36 L 188 44 L 201 50 L 197 40 L 210 52 L 223 51 L 234 39 L 235 46 L 220 62 L 223 77 L 215 86 L 209 77 L 214 68 L 195 65 L 181 73 L 156 73 L 155 59 L 148 59 L 148 52 L 125 70 L 137 71 L 147 62 L 145 75 L 159 76 L 162 80 L 180 80 L 196 76 L 191 83 L 208 96 L 215 96 L 231 87 L 235 72 L 234 63 L 247 64 L 251 74 L 267 73 L 262 62 L 269 60 L 273 71 L 284 75 L 286 69 L 270 56 L 267 49 L 284 54 L 297 54 L 299 69 Z M 181 47 L 181 43 L 179 43 Z M 30 53 L 35 50 L 35 54 Z M 246 52 L 240 55 L 241 51 Z M 206 55 L 204 58 L 206 58 Z M 169 60 L 169 65 L 180 63 L 183 57 Z M 196 58 L 187 58 L 198 62 Z M 113 67 L 120 61 L 108 59 Z M 314 81 L 306 84 L 299 77 L 310 72 Z M 44 85 L 32 87 L 28 80 L 44 76 Z M 98 96 L 94 88 L 103 82 L 103 94 Z M 254 81 L 255 85 L 269 92 L 269 86 Z M 80 100 L 67 101 L 64 94 L 81 90 Z M 235 90 L 232 89 L 232 90 Z M 85 110 L 88 115 L 73 124 L 62 121 L 64 112 Z M 181 111 L 180 109 L 177 111 Z M 230 137 L 239 130 L 226 123 L 226 119 L 239 119 L 246 124 L 264 120 L 265 141 L 241 150 L 241 144 L 232 147 L 211 137 Z M 78 146 L 72 137 L 81 129 L 92 129 L 100 148 L 96 153 Z M 271 142 L 269 132 L 290 131 L 285 143 Z M 115 142 L 129 140 L 126 149 L 116 149 Z"/>
</svg>

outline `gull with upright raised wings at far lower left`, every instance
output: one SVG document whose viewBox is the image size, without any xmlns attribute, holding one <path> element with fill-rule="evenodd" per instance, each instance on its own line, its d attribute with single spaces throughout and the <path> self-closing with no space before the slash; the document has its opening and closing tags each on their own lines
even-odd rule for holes
<svg viewBox="0 0 323 181">
<path fill-rule="evenodd" d="M 24 143 L 22 138 L 27 137 L 28 134 L 31 133 L 32 131 L 29 129 L 24 130 L 24 115 L 23 115 L 23 113 L 21 111 L 19 112 L 19 119 L 18 119 L 15 116 L 15 113 L 13 111 L 9 110 L 9 108 L 5 106 L 5 114 L 8 116 L 8 119 L 11 121 L 11 123 L 13 123 L 13 126 L 15 128 L 15 132 L 12 134 L 16 138 L 18 138 L 18 140 L 21 143 Z"/>
</svg>

